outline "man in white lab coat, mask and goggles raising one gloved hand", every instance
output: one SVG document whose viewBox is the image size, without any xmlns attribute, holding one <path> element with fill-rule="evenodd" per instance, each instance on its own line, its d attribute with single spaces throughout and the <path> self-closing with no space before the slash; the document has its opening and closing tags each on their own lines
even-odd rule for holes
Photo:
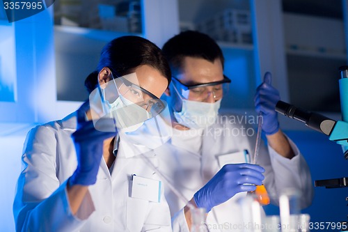
<svg viewBox="0 0 348 232">
<path fill-rule="evenodd" d="M 230 83 L 223 75 L 219 45 L 203 33 L 184 31 L 168 40 L 162 51 L 172 71 L 163 98 L 170 106 L 174 129 L 171 142 L 158 149 L 166 149 L 162 153 L 167 154 L 160 157 L 160 167 L 187 201 L 207 210 L 210 229 L 221 228 L 226 222 L 232 225 L 226 231 L 243 228 L 236 201 L 262 183 L 272 203 L 277 203 L 280 190 L 291 187 L 303 196 L 301 208 L 309 206 L 313 198 L 310 172 L 298 148 L 279 129 L 275 105 L 280 97 L 271 86 L 271 74 L 267 72 L 255 94 L 255 109 L 263 116 L 268 148 L 262 144 L 259 165 L 254 165 L 248 154 L 254 153 L 255 136 L 246 135 L 245 130 L 255 125 L 230 122 L 218 114 Z M 174 231 L 188 231 L 191 215 L 187 202 L 169 190 L 166 198 Z"/>
</svg>

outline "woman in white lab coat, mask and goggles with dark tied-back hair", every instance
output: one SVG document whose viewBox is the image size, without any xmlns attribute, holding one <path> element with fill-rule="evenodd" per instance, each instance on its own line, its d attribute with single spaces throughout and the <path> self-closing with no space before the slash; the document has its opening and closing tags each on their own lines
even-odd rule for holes
<svg viewBox="0 0 348 232">
<path fill-rule="evenodd" d="M 168 62 L 149 40 L 123 36 L 104 46 L 96 70 L 89 100 L 26 137 L 16 231 L 171 231 L 161 180 L 135 149 L 146 143 L 127 138 L 164 110 Z"/>
</svg>

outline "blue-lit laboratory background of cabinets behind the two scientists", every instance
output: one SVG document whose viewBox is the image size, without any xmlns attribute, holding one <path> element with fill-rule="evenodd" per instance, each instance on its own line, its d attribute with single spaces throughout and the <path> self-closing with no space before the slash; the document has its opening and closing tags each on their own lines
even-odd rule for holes
<svg viewBox="0 0 348 232">
<path fill-rule="evenodd" d="M 214 38 L 232 80 L 221 114 L 255 115 L 255 88 L 269 71 L 281 100 L 341 120 L 347 0 L 58 0 L 12 23 L 0 6 L 0 231 L 15 231 L 12 205 L 26 133 L 88 98 L 84 79 L 103 45 L 119 36 L 143 36 L 159 47 L 188 29 Z M 304 123 L 278 118 L 306 158 L 313 185 L 348 178 L 340 145 Z M 347 222 L 347 197 L 344 186 L 315 187 L 313 204 L 302 212 L 311 222 Z M 279 213 L 276 206 L 265 211 Z"/>
</svg>

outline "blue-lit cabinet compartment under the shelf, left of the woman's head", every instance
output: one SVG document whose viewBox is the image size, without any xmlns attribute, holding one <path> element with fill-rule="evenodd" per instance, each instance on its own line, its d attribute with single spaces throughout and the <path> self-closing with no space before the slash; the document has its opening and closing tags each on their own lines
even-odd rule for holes
<svg viewBox="0 0 348 232">
<path fill-rule="evenodd" d="M 143 36 L 77 26 L 54 26 L 57 99 L 83 101 L 88 98 L 84 80 L 97 67 L 102 48 L 115 38 L 129 35 Z"/>
</svg>

